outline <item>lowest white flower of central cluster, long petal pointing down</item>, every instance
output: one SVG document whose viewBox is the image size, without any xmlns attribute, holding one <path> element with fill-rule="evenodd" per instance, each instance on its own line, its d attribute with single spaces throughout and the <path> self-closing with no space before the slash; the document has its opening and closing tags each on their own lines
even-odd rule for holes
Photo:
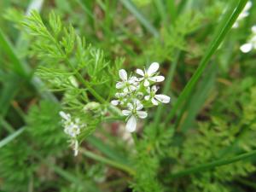
<svg viewBox="0 0 256 192">
<path fill-rule="evenodd" d="M 122 111 L 125 116 L 128 116 L 125 128 L 129 132 L 133 132 L 136 130 L 137 118 L 145 119 L 148 116 L 148 113 L 141 111 L 143 109 L 143 104 L 138 100 L 134 100 L 132 103 L 128 103 L 127 106 L 128 110 Z"/>
</svg>

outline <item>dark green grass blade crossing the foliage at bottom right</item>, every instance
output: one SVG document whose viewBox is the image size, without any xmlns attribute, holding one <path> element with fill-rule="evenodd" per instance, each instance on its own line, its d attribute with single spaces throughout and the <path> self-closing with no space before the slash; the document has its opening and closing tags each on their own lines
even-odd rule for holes
<svg viewBox="0 0 256 192">
<path fill-rule="evenodd" d="M 182 172 L 173 173 L 173 174 L 171 174 L 170 177 L 171 178 L 177 178 L 177 177 L 183 177 L 183 176 L 186 176 L 186 175 L 189 175 L 189 174 L 195 174 L 197 172 L 205 172 L 207 170 L 214 169 L 218 166 L 229 165 L 229 164 L 234 163 L 234 162 L 239 161 L 239 160 L 246 160 L 246 159 L 248 159 L 250 157 L 253 157 L 253 156 L 256 156 L 256 150 L 253 150 L 253 151 L 245 153 L 245 154 L 240 154 L 240 155 L 237 155 L 237 156 L 229 158 L 229 159 L 215 160 L 211 163 L 205 163 L 205 164 L 202 164 L 200 166 L 194 166 L 194 167 L 191 167 L 191 168 L 189 168 L 187 170 L 184 170 Z"/>
</svg>

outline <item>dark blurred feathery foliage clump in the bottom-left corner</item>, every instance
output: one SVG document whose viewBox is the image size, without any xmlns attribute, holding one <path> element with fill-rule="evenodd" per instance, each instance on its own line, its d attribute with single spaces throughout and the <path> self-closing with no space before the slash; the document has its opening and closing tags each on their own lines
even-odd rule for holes
<svg viewBox="0 0 256 192">
<path fill-rule="evenodd" d="M 27 139 L 20 137 L 0 149 L 0 189 L 3 191 L 22 192 L 29 189 L 38 164 L 34 162 Z"/>
</svg>

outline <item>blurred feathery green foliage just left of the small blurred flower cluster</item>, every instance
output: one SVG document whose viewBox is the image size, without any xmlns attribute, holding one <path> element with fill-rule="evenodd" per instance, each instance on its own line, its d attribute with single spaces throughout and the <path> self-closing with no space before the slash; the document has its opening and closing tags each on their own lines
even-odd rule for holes
<svg viewBox="0 0 256 192">
<path fill-rule="evenodd" d="M 42 101 L 30 108 L 26 117 L 26 130 L 32 137 L 32 147 L 40 154 L 60 154 L 67 148 L 67 137 L 61 127 L 60 105 L 55 102 Z"/>
</svg>

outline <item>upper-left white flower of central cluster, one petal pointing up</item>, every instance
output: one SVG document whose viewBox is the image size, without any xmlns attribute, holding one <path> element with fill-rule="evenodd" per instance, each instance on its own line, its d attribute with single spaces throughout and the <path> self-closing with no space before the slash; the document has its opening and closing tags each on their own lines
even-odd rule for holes
<svg viewBox="0 0 256 192">
<path fill-rule="evenodd" d="M 119 70 L 119 78 L 122 81 L 119 81 L 115 87 L 117 89 L 124 89 L 124 92 L 134 91 L 137 90 L 137 78 L 134 76 L 131 76 L 128 78 L 127 73 L 125 69 Z"/>
</svg>

